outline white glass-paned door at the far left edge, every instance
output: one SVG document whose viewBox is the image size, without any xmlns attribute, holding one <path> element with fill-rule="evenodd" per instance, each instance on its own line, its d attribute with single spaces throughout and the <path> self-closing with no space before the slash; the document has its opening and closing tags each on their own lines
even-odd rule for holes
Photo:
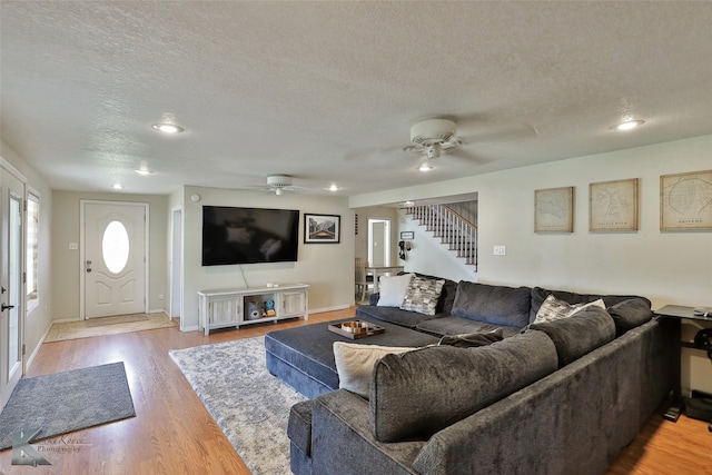
<svg viewBox="0 0 712 475">
<path fill-rule="evenodd" d="M 2 168 L 0 191 L 0 403 L 10 398 L 23 373 L 22 249 L 24 182 Z"/>
</svg>

